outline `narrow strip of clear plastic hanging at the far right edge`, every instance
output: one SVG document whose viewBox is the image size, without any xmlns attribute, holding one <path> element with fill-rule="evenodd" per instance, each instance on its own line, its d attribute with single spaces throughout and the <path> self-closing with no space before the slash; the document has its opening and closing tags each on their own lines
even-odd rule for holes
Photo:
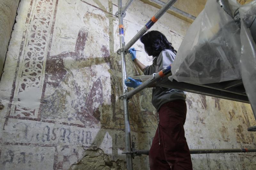
<svg viewBox="0 0 256 170">
<path fill-rule="evenodd" d="M 241 16 L 242 79 L 256 118 L 256 44 L 250 31 L 250 26 L 255 19 L 256 1 L 239 8 L 239 13 Z"/>
</svg>

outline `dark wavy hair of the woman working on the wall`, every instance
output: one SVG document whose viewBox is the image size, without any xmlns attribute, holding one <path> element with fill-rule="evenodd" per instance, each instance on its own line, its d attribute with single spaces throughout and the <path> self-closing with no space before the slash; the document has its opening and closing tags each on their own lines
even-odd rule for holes
<svg viewBox="0 0 256 170">
<path fill-rule="evenodd" d="M 170 49 L 175 54 L 177 51 L 172 47 L 172 43 L 169 42 L 163 33 L 159 31 L 149 31 L 140 37 L 140 41 L 144 44 L 145 51 L 149 56 L 153 58 L 158 57 L 158 55 L 164 49 Z"/>
</svg>

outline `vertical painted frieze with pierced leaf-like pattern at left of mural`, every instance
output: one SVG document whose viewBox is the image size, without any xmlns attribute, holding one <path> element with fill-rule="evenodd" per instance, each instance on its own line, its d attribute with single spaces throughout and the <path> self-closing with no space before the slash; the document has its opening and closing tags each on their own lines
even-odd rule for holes
<svg viewBox="0 0 256 170">
<path fill-rule="evenodd" d="M 10 117 L 38 118 L 56 0 L 31 1 L 21 43 Z M 32 107 L 31 107 L 32 106 Z"/>
</svg>

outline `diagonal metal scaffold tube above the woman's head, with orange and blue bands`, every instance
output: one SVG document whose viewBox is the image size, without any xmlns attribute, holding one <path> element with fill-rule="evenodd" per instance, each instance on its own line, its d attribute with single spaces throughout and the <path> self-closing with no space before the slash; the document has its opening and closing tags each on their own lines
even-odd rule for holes
<svg viewBox="0 0 256 170">
<path fill-rule="evenodd" d="M 176 2 L 177 0 L 169 0 L 164 6 L 147 22 L 143 28 L 140 29 L 140 31 L 132 38 L 131 41 L 129 41 L 125 46 L 123 53 L 127 54 L 128 49 L 132 47 L 132 45 L 140 39 L 140 37 L 146 33 L 155 23 L 156 21 L 162 17 L 162 15 Z"/>
</svg>

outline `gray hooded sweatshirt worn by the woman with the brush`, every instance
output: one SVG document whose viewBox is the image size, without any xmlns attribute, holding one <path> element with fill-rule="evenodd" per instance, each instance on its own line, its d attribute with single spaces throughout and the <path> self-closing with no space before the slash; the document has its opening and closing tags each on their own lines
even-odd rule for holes
<svg viewBox="0 0 256 170">
<path fill-rule="evenodd" d="M 165 67 L 172 64 L 175 58 L 175 54 L 170 49 L 165 49 L 161 51 L 159 56 L 153 61 L 152 65 L 146 66 L 144 69 L 144 75 L 152 75 Z M 152 104 L 158 111 L 160 107 L 169 101 L 173 100 L 185 100 L 186 94 L 183 91 L 164 88 L 164 87 L 154 87 L 152 90 Z"/>
</svg>

